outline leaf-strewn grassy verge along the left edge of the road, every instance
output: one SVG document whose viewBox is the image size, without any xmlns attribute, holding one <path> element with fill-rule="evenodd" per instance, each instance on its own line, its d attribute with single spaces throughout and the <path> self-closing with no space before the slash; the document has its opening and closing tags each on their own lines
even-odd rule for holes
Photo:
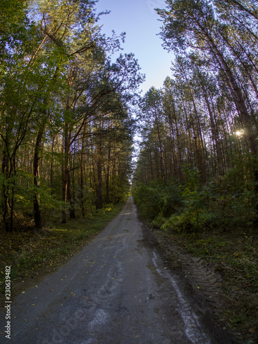
<svg viewBox="0 0 258 344">
<path fill-rule="evenodd" d="M 41 232 L 35 232 L 32 225 L 13 233 L 0 228 L 0 305 L 5 297 L 6 266 L 11 267 L 14 297 L 71 259 L 120 213 L 122 206 L 124 203 L 108 206 L 87 219 L 67 219 L 67 224 L 61 224 L 61 213 L 53 211 L 45 216 Z"/>
</svg>

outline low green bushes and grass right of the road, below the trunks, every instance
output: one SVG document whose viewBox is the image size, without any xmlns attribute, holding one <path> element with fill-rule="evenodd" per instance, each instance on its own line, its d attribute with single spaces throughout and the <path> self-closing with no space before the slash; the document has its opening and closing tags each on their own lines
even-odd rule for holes
<svg viewBox="0 0 258 344">
<path fill-rule="evenodd" d="M 201 186 L 199 174 L 185 166 L 182 185 L 159 180 L 138 184 L 134 200 L 153 229 L 217 266 L 227 299 L 224 318 L 228 327 L 243 330 L 247 336 L 255 334 L 258 200 L 254 184 L 243 180 L 239 171 L 228 171 Z"/>
</svg>

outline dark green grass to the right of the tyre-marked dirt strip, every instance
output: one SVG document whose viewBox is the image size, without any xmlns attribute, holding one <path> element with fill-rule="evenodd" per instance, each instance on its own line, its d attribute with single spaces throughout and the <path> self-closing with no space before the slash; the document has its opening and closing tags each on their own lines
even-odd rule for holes
<svg viewBox="0 0 258 344">
<path fill-rule="evenodd" d="M 230 329 L 247 334 L 258 331 L 258 242 L 240 228 L 227 232 L 175 233 L 166 231 L 170 239 L 187 252 L 204 261 L 213 262 L 222 275 L 222 291 L 227 303 L 224 319 Z M 253 242 L 252 242 L 253 241 Z M 248 344 L 255 343 L 248 341 Z"/>
</svg>

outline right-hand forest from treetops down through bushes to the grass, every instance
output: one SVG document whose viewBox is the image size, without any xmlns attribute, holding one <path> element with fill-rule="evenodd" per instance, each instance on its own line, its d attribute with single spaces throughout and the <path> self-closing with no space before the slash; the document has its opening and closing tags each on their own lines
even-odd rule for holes
<svg viewBox="0 0 258 344">
<path fill-rule="evenodd" d="M 215 264 L 220 319 L 257 343 L 258 3 L 167 0 L 157 12 L 174 58 L 140 100 L 133 198 L 166 251 Z"/>
</svg>

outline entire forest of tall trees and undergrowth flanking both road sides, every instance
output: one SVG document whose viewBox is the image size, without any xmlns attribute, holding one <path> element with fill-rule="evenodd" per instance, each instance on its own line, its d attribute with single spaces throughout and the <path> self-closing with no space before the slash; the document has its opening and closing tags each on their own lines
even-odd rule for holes
<svg viewBox="0 0 258 344">
<path fill-rule="evenodd" d="M 53 211 L 67 228 L 104 216 L 131 189 L 153 228 L 217 259 L 234 277 L 228 293 L 236 281 L 245 288 L 230 319 L 244 323 L 258 309 L 257 0 L 166 0 L 156 12 L 172 67 L 143 96 L 135 56 L 113 57 L 125 34 L 103 34 L 108 12 L 95 5 L 0 0 L 3 261 L 19 252 L 17 276 L 44 266 L 61 254 L 35 236 Z M 24 233 L 27 246 L 13 245 Z"/>
</svg>

